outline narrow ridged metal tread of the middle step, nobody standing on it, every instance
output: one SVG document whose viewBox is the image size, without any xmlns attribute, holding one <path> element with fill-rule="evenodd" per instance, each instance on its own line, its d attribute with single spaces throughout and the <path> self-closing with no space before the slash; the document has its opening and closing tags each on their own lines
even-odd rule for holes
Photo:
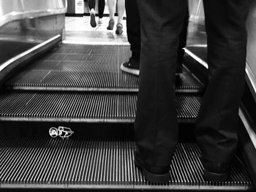
<svg viewBox="0 0 256 192">
<path fill-rule="evenodd" d="M 0 120 L 134 122 L 136 93 L 5 93 Z M 180 122 L 194 122 L 199 96 L 177 96 Z"/>
</svg>

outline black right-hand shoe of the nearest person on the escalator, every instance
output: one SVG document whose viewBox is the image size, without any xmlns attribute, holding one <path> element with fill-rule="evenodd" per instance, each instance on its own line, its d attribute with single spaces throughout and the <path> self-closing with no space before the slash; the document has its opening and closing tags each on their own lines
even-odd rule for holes
<svg viewBox="0 0 256 192">
<path fill-rule="evenodd" d="M 203 164 L 203 179 L 205 181 L 220 182 L 227 180 L 230 164 L 211 162 L 201 159 Z"/>
</svg>

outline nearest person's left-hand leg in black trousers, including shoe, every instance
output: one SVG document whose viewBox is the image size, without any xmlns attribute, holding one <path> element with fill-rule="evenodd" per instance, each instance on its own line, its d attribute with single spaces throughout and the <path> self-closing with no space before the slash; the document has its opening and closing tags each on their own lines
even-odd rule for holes
<svg viewBox="0 0 256 192">
<path fill-rule="evenodd" d="M 140 85 L 135 118 L 135 164 L 147 180 L 166 183 L 178 141 L 176 73 L 178 34 L 187 0 L 138 0 L 141 22 Z M 137 163 L 136 163 L 137 162 Z"/>
</svg>

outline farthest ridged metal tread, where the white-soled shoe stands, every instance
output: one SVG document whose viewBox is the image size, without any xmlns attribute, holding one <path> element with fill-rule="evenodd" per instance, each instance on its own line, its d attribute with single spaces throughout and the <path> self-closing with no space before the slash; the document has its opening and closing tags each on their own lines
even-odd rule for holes
<svg viewBox="0 0 256 192">
<path fill-rule="evenodd" d="M 29 65 L 6 86 L 37 91 L 138 91 L 139 77 L 120 69 L 129 56 L 129 46 L 62 45 Z M 184 69 L 176 89 L 198 92 L 203 84 Z"/>
</svg>

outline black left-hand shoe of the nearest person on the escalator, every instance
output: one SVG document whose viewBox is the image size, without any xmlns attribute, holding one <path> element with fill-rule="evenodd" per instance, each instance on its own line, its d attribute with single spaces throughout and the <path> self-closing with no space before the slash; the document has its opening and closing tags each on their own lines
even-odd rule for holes
<svg viewBox="0 0 256 192">
<path fill-rule="evenodd" d="M 152 183 L 169 183 L 170 181 L 169 172 L 166 174 L 154 174 L 154 173 L 148 172 L 148 170 L 143 167 L 143 164 L 140 163 L 140 161 L 137 161 L 136 159 L 135 159 L 135 166 L 138 166 L 138 168 L 142 169 L 142 174 L 145 176 L 146 180 Z"/>
</svg>

